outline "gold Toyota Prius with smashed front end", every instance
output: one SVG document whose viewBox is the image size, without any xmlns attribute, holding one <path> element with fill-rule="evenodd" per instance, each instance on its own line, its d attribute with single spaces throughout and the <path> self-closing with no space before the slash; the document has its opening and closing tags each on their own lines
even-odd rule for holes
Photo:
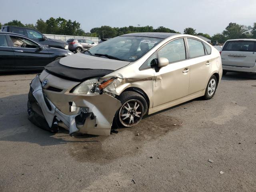
<svg viewBox="0 0 256 192">
<path fill-rule="evenodd" d="M 218 50 L 186 34 L 133 33 L 48 64 L 30 84 L 28 119 L 45 130 L 109 135 L 203 96 L 222 77 Z"/>
</svg>

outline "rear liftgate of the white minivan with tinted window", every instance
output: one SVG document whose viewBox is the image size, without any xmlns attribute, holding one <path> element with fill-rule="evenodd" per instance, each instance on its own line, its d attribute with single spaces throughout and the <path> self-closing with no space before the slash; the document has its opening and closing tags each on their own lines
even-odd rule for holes
<svg viewBox="0 0 256 192">
<path fill-rule="evenodd" d="M 227 41 L 221 52 L 222 65 L 254 67 L 256 62 L 254 41 Z"/>
</svg>

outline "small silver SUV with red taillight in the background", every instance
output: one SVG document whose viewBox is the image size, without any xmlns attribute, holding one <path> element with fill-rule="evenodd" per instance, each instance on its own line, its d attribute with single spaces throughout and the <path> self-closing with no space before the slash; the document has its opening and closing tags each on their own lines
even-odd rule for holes
<svg viewBox="0 0 256 192">
<path fill-rule="evenodd" d="M 86 50 L 98 45 L 88 39 L 68 39 L 67 43 L 68 43 L 68 49 L 76 53 L 80 53 L 83 50 Z"/>
</svg>

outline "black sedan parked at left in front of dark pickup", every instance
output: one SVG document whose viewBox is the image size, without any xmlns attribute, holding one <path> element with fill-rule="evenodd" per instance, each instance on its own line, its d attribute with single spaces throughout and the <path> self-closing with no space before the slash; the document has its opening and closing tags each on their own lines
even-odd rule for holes
<svg viewBox="0 0 256 192">
<path fill-rule="evenodd" d="M 0 72 L 43 69 L 48 63 L 72 54 L 45 47 L 24 35 L 0 32 Z"/>
</svg>

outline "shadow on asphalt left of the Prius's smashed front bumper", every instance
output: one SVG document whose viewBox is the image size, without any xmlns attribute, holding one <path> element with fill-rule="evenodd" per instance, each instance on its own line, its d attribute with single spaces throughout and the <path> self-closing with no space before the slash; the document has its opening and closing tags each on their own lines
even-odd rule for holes
<svg viewBox="0 0 256 192">
<path fill-rule="evenodd" d="M 40 146 L 69 142 L 98 142 L 93 135 L 69 136 L 68 130 L 60 128 L 58 134 L 42 130 L 28 120 L 28 95 L 21 94 L 0 98 L 0 141 L 30 142 Z"/>
</svg>

